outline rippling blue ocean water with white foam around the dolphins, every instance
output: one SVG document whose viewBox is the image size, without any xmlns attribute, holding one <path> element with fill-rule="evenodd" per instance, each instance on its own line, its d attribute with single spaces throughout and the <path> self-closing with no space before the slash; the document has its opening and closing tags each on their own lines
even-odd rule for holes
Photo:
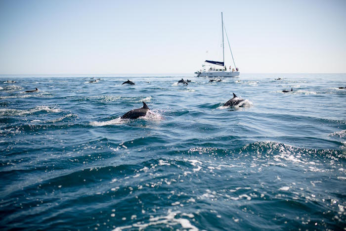
<svg viewBox="0 0 346 231">
<path fill-rule="evenodd" d="M 0 77 L 1 230 L 346 228 L 346 74 L 89 77 Z"/>
</svg>

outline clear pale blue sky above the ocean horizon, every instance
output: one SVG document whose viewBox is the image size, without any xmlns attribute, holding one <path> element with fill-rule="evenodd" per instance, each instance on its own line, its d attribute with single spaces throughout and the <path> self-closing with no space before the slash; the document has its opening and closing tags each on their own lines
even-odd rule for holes
<svg viewBox="0 0 346 231">
<path fill-rule="evenodd" d="M 346 73 L 346 0 L 0 0 L 0 74 L 193 73 L 221 12 L 243 73 Z"/>
</svg>

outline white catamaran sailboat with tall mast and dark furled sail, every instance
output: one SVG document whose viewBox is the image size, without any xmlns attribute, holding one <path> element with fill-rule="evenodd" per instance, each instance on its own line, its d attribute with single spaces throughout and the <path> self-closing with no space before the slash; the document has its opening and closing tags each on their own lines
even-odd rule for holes
<svg viewBox="0 0 346 231">
<path fill-rule="evenodd" d="M 223 25 L 222 12 L 221 12 L 221 24 L 222 24 L 222 62 L 221 61 L 212 61 L 212 60 L 206 60 L 205 61 L 206 63 L 211 63 L 211 64 L 214 64 L 216 66 L 221 66 L 221 67 L 211 66 L 209 69 L 206 70 L 206 65 L 202 65 L 203 70 L 201 69 L 201 70 L 195 72 L 195 74 L 197 74 L 197 77 L 236 77 L 236 76 L 239 76 L 239 74 L 240 74 L 239 69 L 238 69 L 238 67 L 236 67 L 235 62 L 234 62 L 233 53 L 231 50 L 231 46 L 229 45 L 226 28 Z M 224 54 L 224 42 L 223 42 L 223 30 L 226 33 L 229 50 L 231 51 L 232 60 L 233 60 L 233 64 L 234 64 L 234 67 L 232 68 L 231 66 L 229 66 L 228 70 L 227 70 L 227 67 L 225 66 L 225 62 L 224 62 L 225 54 Z"/>
</svg>

